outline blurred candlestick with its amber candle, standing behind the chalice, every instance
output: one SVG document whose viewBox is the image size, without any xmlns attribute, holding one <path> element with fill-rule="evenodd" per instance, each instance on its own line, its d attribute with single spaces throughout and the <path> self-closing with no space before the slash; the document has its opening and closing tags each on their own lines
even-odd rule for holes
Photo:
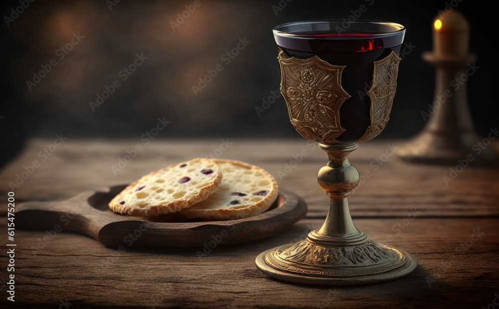
<svg viewBox="0 0 499 309">
<path fill-rule="evenodd" d="M 439 14 L 433 25 L 434 50 L 424 52 L 423 60 L 436 69 L 436 101 L 431 111 L 422 114 L 428 120 L 425 128 L 397 155 L 408 162 L 455 165 L 473 154 L 473 147 L 482 140 L 473 126 L 467 98 L 467 80 L 477 70 L 477 56 L 470 53 L 468 20 L 456 9 Z M 473 164 L 490 167 L 497 165 L 498 154 L 490 147 L 476 158 Z"/>
</svg>

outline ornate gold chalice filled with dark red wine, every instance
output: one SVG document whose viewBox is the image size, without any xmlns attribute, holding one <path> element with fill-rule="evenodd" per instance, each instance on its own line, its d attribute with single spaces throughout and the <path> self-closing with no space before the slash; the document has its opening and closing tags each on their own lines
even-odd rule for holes
<svg viewBox="0 0 499 309">
<path fill-rule="evenodd" d="M 273 278 L 319 285 L 373 284 L 408 275 L 416 259 L 368 239 L 348 208 L 348 195 L 359 182 L 348 154 L 388 121 L 405 28 L 357 21 L 344 29 L 342 21 L 323 20 L 284 24 L 273 32 L 291 124 L 329 156 L 317 181 L 330 206 L 319 229 L 261 253 L 256 267 Z"/>
</svg>

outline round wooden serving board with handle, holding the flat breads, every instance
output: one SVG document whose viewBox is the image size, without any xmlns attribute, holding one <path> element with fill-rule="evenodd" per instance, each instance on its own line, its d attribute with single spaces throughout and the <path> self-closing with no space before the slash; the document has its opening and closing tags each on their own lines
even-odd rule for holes
<svg viewBox="0 0 499 309">
<path fill-rule="evenodd" d="M 300 197 L 281 190 L 267 211 L 244 219 L 178 222 L 169 215 L 124 216 L 107 206 L 124 188 L 84 191 L 63 201 L 21 203 L 16 206 L 16 227 L 46 230 L 48 237 L 60 231 L 85 234 L 118 250 L 132 244 L 134 248 L 203 247 L 216 241 L 226 246 L 269 237 L 303 218 L 307 211 Z"/>
</svg>

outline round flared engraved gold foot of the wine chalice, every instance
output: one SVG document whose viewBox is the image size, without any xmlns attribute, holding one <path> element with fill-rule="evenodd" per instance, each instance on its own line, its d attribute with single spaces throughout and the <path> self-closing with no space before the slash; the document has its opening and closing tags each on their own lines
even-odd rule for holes
<svg viewBox="0 0 499 309">
<path fill-rule="evenodd" d="M 409 275 L 418 264 L 411 254 L 372 240 L 341 246 L 309 238 L 262 252 L 255 263 L 275 279 L 330 286 L 391 281 Z"/>
</svg>

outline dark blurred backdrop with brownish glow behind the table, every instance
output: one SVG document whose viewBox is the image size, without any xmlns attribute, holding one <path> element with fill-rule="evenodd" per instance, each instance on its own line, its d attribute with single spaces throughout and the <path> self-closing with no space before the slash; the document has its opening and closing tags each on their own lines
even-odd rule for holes
<svg viewBox="0 0 499 309">
<path fill-rule="evenodd" d="M 434 69 L 421 60 L 421 53 L 432 49 L 432 20 L 446 5 L 400 0 L 200 0 L 182 21 L 177 14 L 193 0 L 34 1 L 15 17 L 11 9 L 28 2 L 2 4 L 0 164 L 31 137 L 63 133 L 69 138 L 138 138 L 163 117 L 170 124 L 160 138 L 298 137 L 288 123 L 282 97 L 260 115 L 255 111 L 280 81 L 271 29 L 290 21 L 348 18 L 361 4 L 368 8 L 360 18 L 405 25 L 405 42 L 415 46 L 401 63 L 391 120 L 381 135 L 410 137 L 424 126 L 421 112 L 433 102 Z M 495 50 L 483 37 L 483 29 L 492 28 L 495 13 L 478 1 L 447 3 L 458 3 L 456 8 L 471 23 L 471 50 L 479 55 L 480 70 L 469 80 L 470 110 L 483 135 L 498 123 Z M 77 44 L 60 59 L 61 46 L 78 33 L 80 41 L 73 39 Z M 240 38 L 250 42 L 226 64 L 221 56 Z M 123 81 L 126 73 L 120 71 L 134 62 L 136 54 L 147 59 Z M 33 73 L 50 59 L 57 65 L 28 87 L 26 81 L 33 82 Z M 195 95 L 192 86 L 219 63 L 223 70 Z M 92 111 L 89 102 L 96 102 L 96 95 L 116 79 L 120 87 Z"/>
</svg>

